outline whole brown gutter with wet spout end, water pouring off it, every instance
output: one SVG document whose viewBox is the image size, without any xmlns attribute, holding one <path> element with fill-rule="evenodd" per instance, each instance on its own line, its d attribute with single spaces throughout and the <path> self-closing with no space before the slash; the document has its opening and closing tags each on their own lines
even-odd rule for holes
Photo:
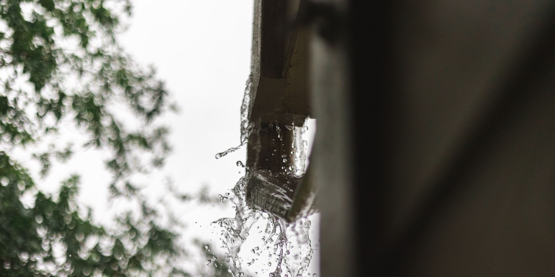
<svg viewBox="0 0 555 277">
<path fill-rule="evenodd" d="M 254 5 L 246 201 L 287 222 L 315 211 L 316 188 L 299 163 L 299 136 L 310 115 L 308 32 L 291 23 L 303 8 L 301 0 Z"/>
</svg>

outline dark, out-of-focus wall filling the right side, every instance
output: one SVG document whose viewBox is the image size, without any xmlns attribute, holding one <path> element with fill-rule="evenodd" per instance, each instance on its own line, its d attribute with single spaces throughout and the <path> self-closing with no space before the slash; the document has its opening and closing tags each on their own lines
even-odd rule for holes
<svg viewBox="0 0 555 277">
<path fill-rule="evenodd" d="M 313 24 L 322 275 L 553 276 L 555 2 L 383 2 Z"/>
</svg>

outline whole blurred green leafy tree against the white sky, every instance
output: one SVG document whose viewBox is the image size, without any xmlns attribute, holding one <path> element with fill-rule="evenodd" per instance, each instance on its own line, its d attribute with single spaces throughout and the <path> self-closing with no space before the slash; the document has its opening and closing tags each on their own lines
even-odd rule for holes
<svg viewBox="0 0 555 277">
<path fill-rule="evenodd" d="M 0 276 L 188 275 L 176 266 L 177 234 L 159 222 L 171 216 L 149 207 L 130 178 L 162 165 L 167 129 L 155 119 L 170 110 L 154 71 L 117 43 L 130 11 L 117 0 L 0 0 Z M 125 124 L 122 109 L 133 115 Z M 51 159 L 70 159 L 72 147 L 34 153 L 38 175 L 14 158 L 16 148 L 59 136 L 64 120 L 87 136 L 84 147 L 110 153 L 112 197 L 137 203 L 114 228 L 78 208 L 78 175 L 59 194 L 36 188 Z"/>
</svg>

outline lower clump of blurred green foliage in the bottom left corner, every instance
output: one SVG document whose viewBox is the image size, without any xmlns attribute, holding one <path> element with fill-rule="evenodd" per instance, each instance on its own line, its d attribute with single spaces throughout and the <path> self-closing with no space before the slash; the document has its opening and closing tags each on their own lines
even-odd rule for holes
<svg viewBox="0 0 555 277">
<path fill-rule="evenodd" d="M 80 213 L 75 201 L 77 175 L 63 182 L 57 200 L 38 192 L 27 208 L 19 198 L 34 187 L 32 178 L 3 152 L 0 165 L 0 276 L 145 276 L 163 271 L 160 258 L 183 254 L 153 210 L 140 220 L 119 218 L 111 232 L 91 224 L 90 211 Z"/>
</svg>

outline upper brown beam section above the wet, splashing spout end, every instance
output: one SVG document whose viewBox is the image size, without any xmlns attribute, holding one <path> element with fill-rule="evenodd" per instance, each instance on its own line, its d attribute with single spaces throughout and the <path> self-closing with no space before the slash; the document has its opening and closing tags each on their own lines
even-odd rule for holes
<svg viewBox="0 0 555 277">
<path fill-rule="evenodd" d="M 302 125 L 310 115 L 308 32 L 295 24 L 301 0 L 255 1 L 251 121 Z"/>
</svg>

